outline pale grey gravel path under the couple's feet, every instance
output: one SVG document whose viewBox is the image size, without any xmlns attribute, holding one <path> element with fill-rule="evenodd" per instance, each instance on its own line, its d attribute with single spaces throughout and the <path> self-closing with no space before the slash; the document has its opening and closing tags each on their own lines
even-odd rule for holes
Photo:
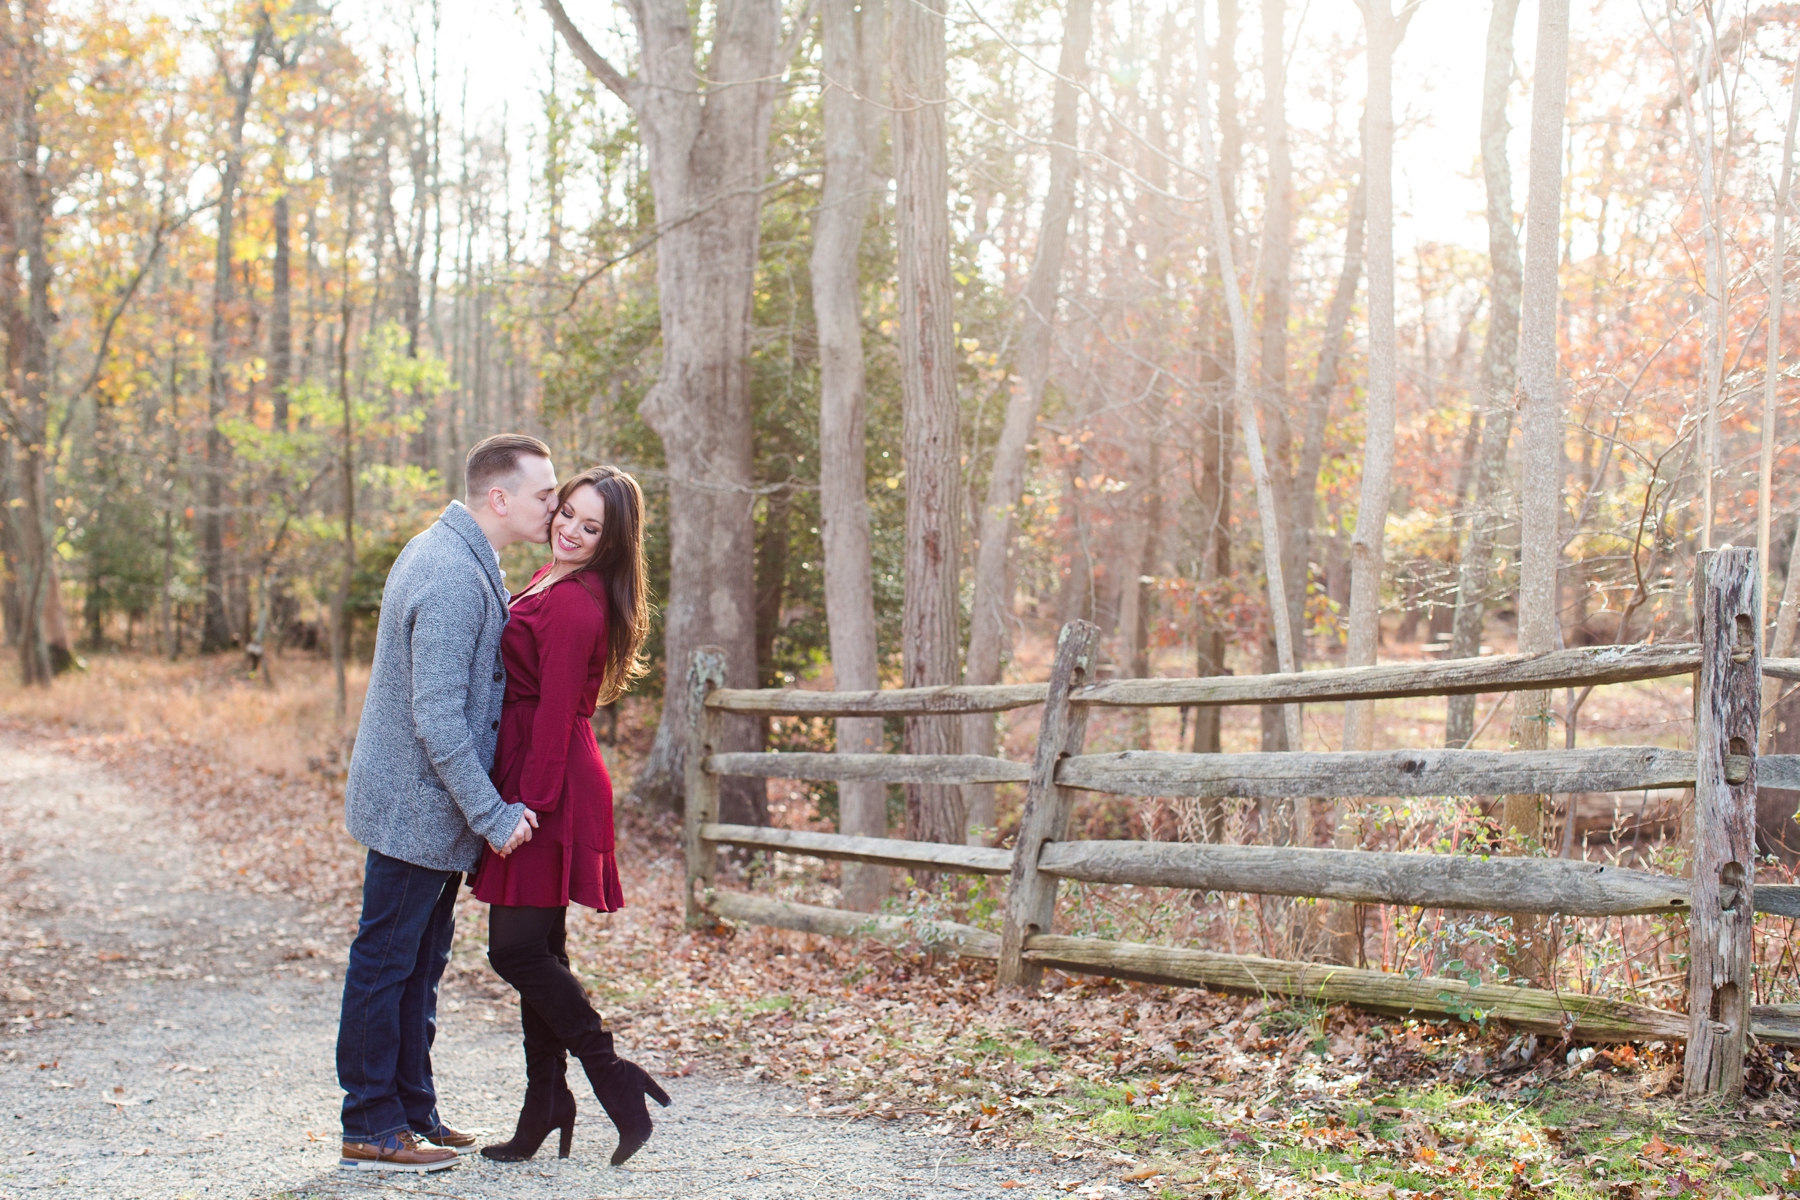
<svg viewBox="0 0 1800 1200">
<path fill-rule="evenodd" d="M 0 1040 L 0 1200 L 936 1198 L 1075 1182 L 1057 1178 L 1075 1164 L 985 1155 L 923 1121 L 846 1123 L 716 1072 L 664 1079 L 675 1106 L 621 1169 L 607 1166 L 612 1126 L 589 1094 L 562 1162 L 338 1171 L 342 914 L 234 885 L 160 801 L 27 738 L 0 736 L 0 991 L 16 1013 Z M 517 1027 L 455 986 L 441 1007 L 445 1115 L 504 1137 L 522 1088 Z M 637 1056 L 666 1069 L 653 1051 Z"/>
</svg>

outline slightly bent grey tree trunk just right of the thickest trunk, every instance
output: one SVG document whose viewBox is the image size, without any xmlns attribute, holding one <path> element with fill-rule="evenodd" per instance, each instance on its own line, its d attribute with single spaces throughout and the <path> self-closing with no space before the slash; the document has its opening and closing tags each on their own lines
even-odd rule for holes
<svg viewBox="0 0 1800 1200">
<path fill-rule="evenodd" d="M 869 560 L 868 464 L 864 461 L 862 281 L 859 252 L 880 140 L 886 18 L 875 0 L 823 0 L 824 187 L 812 218 L 812 308 L 819 327 L 819 513 L 824 543 L 824 617 L 832 678 L 841 691 L 882 685 L 875 640 L 875 576 Z M 878 754 L 880 718 L 841 718 L 839 754 Z M 837 784 L 837 831 L 887 837 L 887 786 Z M 887 867 L 842 865 L 842 905 L 873 912 L 887 894 Z"/>
</svg>

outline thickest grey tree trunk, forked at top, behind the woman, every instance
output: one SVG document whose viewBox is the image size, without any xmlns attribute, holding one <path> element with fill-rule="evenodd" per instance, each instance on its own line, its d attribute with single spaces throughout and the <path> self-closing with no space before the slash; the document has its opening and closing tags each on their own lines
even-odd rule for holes
<svg viewBox="0 0 1800 1200">
<path fill-rule="evenodd" d="M 751 317 L 769 126 L 785 49 L 774 0 L 722 0 L 697 31 L 682 0 L 632 5 L 639 70 L 626 79 L 589 45 L 562 0 L 542 0 L 581 65 L 630 104 L 657 209 L 662 369 L 639 408 L 662 441 L 670 486 L 664 662 L 725 651 L 725 682 L 756 685 Z M 709 58 L 697 63 L 700 34 Z M 664 687 L 662 718 L 632 795 L 680 808 L 688 696 Z M 758 741 L 725 723 L 725 748 Z M 720 817 L 767 822 L 761 781 L 727 779 Z"/>
</svg>

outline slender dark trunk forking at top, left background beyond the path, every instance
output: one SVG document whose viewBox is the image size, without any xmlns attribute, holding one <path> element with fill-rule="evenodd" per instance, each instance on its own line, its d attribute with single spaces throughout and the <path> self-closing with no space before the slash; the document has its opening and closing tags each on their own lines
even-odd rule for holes
<svg viewBox="0 0 1800 1200">
<path fill-rule="evenodd" d="M 236 293 L 232 279 L 234 216 L 238 210 L 238 180 L 243 173 L 243 124 L 250 113 L 250 95 L 256 90 L 256 72 L 268 45 L 268 18 L 256 29 L 256 38 L 245 52 L 238 77 L 220 63 L 232 85 L 232 113 L 225 135 L 225 160 L 220 164 L 218 234 L 212 245 L 212 329 L 207 340 L 207 448 L 205 491 L 200 509 L 200 561 L 205 569 L 205 617 L 200 626 L 200 651 L 212 653 L 232 642 L 230 615 L 225 612 L 225 434 L 220 419 L 229 399 L 227 374 L 230 371 L 230 308 Z"/>
</svg>

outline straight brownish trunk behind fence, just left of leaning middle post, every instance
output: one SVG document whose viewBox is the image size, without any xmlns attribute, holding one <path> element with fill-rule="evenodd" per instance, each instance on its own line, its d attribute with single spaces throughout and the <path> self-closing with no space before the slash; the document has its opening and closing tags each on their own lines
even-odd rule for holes
<svg viewBox="0 0 1800 1200">
<path fill-rule="evenodd" d="M 952 333 L 949 160 L 943 133 L 943 0 L 895 9 L 893 142 L 900 248 L 900 389 L 905 455 L 905 606 L 902 662 L 907 687 L 954 684 L 961 569 L 961 435 Z M 954 716 L 911 716 L 909 754 L 956 754 Z M 967 838 L 956 786 L 907 786 L 907 837 Z"/>
</svg>

